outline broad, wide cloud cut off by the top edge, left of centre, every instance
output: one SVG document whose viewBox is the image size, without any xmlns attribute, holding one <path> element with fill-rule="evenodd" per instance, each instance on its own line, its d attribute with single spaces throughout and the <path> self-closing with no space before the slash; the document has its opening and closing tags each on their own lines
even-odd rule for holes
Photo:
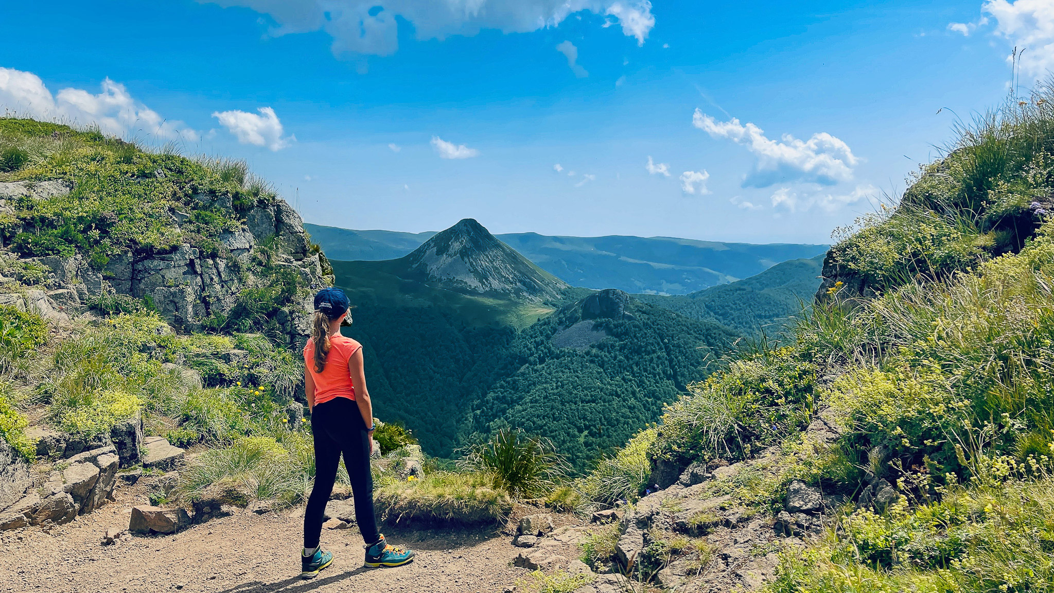
<svg viewBox="0 0 1054 593">
<path fill-rule="evenodd" d="M 567 17 L 588 11 L 622 25 L 622 33 L 643 45 L 655 27 L 649 0 L 198 0 L 220 6 L 243 6 L 273 21 L 273 36 L 324 31 L 334 55 L 388 56 L 398 50 L 398 22 L 408 21 L 418 40 L 473 36 L 485 28 L 529 33 L 555 27 Z M 581 15 L 579 15 L 581 16 Z"/>
</svg>

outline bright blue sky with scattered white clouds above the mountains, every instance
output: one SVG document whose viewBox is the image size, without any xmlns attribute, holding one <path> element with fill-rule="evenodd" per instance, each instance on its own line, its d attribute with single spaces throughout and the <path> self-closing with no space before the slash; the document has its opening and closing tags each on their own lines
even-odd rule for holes
<svg viewBox="0 0 1054 593">
<path fill-rule="evenodd" d="M 7 4 L 0 104 L 358 229 L 826 243 L 1054 66 L 1054 0 Z"/>
</svg>

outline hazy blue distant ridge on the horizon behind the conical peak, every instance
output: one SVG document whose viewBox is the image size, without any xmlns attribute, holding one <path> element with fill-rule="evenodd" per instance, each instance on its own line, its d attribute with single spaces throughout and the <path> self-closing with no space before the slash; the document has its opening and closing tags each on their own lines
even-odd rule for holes
<svg viewBox="0 0 1054 593">
<path fill-rule="evenodd" d="M 394 260 L 436 233 L 348 230 L 306 224 L 331 260 Z M 718 243 L 676 237 L 495 235 L 571 286 L 631 293 L 688 294 L 758 274 L 786 260 L 824 253 L 825 245 Z"/>
</svg>

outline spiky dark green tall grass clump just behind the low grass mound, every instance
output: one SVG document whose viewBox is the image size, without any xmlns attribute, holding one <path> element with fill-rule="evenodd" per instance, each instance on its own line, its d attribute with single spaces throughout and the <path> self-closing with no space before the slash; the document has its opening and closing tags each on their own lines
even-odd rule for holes
<svg viewBox="0 0 1054 593">
<path fill-rule="evenodd" d="M 569 471 L 552 443 L 512 428 L 499 429 L 489 440 L 467 447 L 458 466 L 490 475 L 495 489 L 514 498 L 549 494 Z"/>
</svg>

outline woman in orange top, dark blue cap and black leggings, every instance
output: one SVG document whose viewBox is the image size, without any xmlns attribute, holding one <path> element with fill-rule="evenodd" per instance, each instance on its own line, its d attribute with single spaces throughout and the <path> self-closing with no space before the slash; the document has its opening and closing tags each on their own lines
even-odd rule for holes
<svg viewBox="0 0 1054 593">
<path fill-rule="evenodd" d="M 341 454 L 355 497 L 355 519 L 366 542 L 366 566 L 397 567 L 414 555 L 412 550 L 389 546 L 373 516 L 373 406 L 366 390 L 363 346 L 340 334 L 349 305 L 339 288 L 315 294 L 311 339 L 304 347 L 304 380 L 315 440 L 315 485 L 304 513 L 304 578 L 317 576 L 333 562 L 333 554 L 324 552 L 318 540 Z"/>
</svg>

